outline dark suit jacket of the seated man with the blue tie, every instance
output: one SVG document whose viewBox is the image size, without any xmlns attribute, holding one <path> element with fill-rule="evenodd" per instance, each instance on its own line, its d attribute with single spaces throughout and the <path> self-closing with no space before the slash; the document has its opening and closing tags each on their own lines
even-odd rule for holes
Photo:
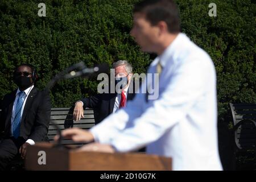
<svg viewBox="0 0 256 182">
<path fill-rule="evenodd" d="M 6 94 L 1 103 L 0 131 L 3 138 L 10 137 L 11 113 L 16 91 Z M 28 94 L 24 106 L 20 122 L 20 137 L 23 137 L 24 140 L 32 139 L 35 142 L 47 140 L 50 116 L 51 102 L 49 94 L 34 87 Z"/>
</svg>

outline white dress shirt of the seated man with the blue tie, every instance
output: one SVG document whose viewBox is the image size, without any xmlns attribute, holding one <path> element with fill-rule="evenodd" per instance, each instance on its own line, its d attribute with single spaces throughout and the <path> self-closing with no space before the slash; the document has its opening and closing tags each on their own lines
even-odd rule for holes
<svg viewBox="0 0 256 182">
<path fill-rule="evenodd" d="M 30 94 L 30 92 L 33 88 L 34 88 L 34 85 L 32 85 L 29 88 L 27 88 L 26 90 L 24 90 L 24 92 L 26 94 L 26 98 L 23 102 L 22 109 L 20 111 L 21 116 L 23 114 L 24 106 L 26 105 L 27 96 L 28 96 L 28 94 Z M 20 91 L 19 88 L 18 88 L 18 90 L 16 92 L 16 97 L 15 97 L 15 100 L 14 100 L 14 104 L 13 104 L 13 112 L 11 113 L 11 124 L 12 124 L 11 125 L 11 136 L 13 136 L 13 121 L 14 121 L 14 118 L 15 118 L 15 109 L 16 109 L 16 104 L 17 104 L 18 98 L 19 98 L 19 96 L 18 96 L 19 92 L 22 92 L 22 91 Z M 20 118 L 22 118 L 22 117 L 20 117 Z M 26 142 L 31 144 L 31 145 L 35 144 L 34 140 L 32 140 L 32 139 L 28 139 Z"/>
</svg>

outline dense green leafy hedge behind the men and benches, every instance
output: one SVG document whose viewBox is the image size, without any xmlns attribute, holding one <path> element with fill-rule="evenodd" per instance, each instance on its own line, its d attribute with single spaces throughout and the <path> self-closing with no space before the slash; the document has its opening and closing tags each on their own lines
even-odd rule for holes
<svg viewBox="0 0 256 182">
<path fill-rule="evenodd" d="M 138 0 L 137 0 L 138 1 Z M 146 72 L 155 55 L 139 50 L 130 37 L 136 0 L 47 0 L 0 2 L 0 98 L 15 89 L 12 71 L 34 64 L 43 89 L 58 72 L 81 60 L 88 67 L 129 60 L 135 73 Z M 209 17 L 212 1 L 179 0 L 182 28 L 212 57 L 217 71 L 218 113 L 224 119 L 229 102 L 256 102 L 255 12 L 250 0 L 214 0 L 217 17 Z M 52 89 L 53 107 L 69 107 L 96 93 L 95 78 L 60 81 Z"/>
</svg>

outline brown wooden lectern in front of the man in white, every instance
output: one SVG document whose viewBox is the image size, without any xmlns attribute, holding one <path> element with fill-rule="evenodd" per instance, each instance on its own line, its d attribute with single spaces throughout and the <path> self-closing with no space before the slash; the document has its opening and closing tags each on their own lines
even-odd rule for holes
<svg viewBox="0 0 256 182">
<path fill-rule="evenodd" d="M 42 164 L 43 155 L 46 157 L 46 164 Z M 61 171 L 171 171 L 171 163 L 171 158 L 157 155 L 77 152 L 54 148 L 53 144 L 44 142 L 28 146 L 25 159 L 27 170 Z"/>
</svg>

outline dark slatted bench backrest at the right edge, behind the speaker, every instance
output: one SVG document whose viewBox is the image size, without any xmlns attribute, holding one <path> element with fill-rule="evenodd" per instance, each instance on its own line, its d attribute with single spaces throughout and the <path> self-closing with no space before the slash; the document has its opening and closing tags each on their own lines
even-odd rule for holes
<svg viewBox="0 0 256 182">
<path fill-rule="evenodd" d="M 236 146 L 240 149 L 256 146 L 256 104 L 232 104 Z"/>
</svg>

